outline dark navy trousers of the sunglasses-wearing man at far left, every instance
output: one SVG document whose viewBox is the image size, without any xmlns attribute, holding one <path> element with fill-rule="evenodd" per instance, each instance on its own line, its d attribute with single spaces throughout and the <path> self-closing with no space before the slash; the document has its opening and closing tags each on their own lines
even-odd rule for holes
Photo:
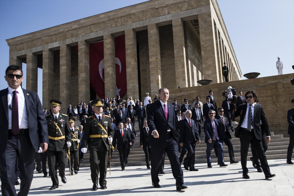
<svg viewBox="0 0 294 196">
<path fill-rule="evenodd" d="M 3 196 L 16 196 L 16 163 L 18 162 L 20 191 L 18 195 L 28 195 L 33 180 L 35 152 L 29 134 L 8 135 L 4 153 L 0 155 L 1 192 Z"/>
</svg>

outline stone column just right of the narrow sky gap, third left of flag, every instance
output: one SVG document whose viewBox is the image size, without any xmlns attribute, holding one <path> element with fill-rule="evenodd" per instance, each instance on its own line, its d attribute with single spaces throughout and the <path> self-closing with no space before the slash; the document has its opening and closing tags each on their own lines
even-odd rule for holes
<svg viewBox="0 0 294 196">
<path fill-rule="evenodd" d="M 53 79 L 53 57 L 54 53 L 50 49 L 43 50 L 43 109 L 50 110 L 49 101 L 53 99 L 54 79 Z"/>
</svg>

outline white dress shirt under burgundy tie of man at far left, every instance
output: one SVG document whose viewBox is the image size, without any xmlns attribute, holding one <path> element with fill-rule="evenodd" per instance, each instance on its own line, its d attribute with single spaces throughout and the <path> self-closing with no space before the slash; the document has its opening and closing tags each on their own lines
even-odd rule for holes
<svg viewBox="0 0 294 196">
<path fill-rule="evenodd" d="M 14 89 L 8 86 L 8 129 L 12 129 L 12 98 Z M 19 128 L 27 129 L 29 128 L 28 114 L 26 111 L 26 101 L 24 98 L 24 91 L 22 91 L 21 86 L 16 89 L 17 99 L 18 99 L 18 109 L 19 109 Z M 9 107 L 10 106 L 10 107 Z"/>
</svg>

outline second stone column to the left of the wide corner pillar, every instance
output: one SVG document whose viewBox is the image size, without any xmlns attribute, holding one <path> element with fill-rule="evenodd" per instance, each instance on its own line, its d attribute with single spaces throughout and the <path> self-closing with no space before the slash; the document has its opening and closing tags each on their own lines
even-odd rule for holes
<svg viewBox="0 0 294 196">
<path fill-rule="evenodd" d="M 151 95 L 154 96 L 158 94 L 158 90 L 162 87 L 159 30 L 156 24 L 150 24 L 147 28 Z"/>
</svg>

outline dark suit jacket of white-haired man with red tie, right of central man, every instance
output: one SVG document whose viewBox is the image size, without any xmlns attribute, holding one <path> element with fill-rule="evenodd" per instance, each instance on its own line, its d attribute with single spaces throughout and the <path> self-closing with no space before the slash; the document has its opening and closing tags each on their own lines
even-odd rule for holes
<svg viewBox="0 0 294 196">
<path fill-rule="evenodd" d="M 180 143 L 195 143 L 196 140 L 200 140 L 198 126 L 193 119 L 190 120 L 192 127 L 186 118 L 180 121 Z"/>
</svg>

